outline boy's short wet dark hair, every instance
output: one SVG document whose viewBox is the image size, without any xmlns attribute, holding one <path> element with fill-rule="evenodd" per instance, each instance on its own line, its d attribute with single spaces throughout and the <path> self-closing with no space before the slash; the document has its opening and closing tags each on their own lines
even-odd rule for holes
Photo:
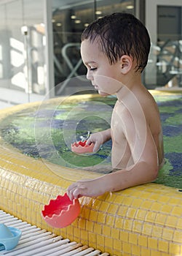
<svg viewBox="0 0 182 256">
<path fill-rule="evenodd" d="M 136 61 L 136 71 L 142 72 L 146 67 L 151 47 L 149 33 L 130 13 L 116 12 L 93 21 L 84 29 L 84 39 L 97 40 L 110 64 L 126 54 Z"/>
</svg>

